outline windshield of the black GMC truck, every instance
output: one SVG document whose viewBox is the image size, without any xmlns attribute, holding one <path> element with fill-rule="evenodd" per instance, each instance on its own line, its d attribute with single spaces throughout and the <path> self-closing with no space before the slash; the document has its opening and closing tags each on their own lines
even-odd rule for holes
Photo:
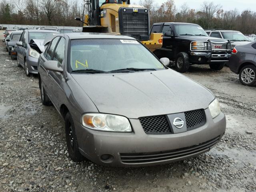
<svg viewBox="0 0 256 192">
<path fill-rule="evenodd" d="M 175 26 L 175 31 L 178 35 L 208 36 L 208 34 L 199 25 L 175 24 L 174 26 Z"/>
</svg>

